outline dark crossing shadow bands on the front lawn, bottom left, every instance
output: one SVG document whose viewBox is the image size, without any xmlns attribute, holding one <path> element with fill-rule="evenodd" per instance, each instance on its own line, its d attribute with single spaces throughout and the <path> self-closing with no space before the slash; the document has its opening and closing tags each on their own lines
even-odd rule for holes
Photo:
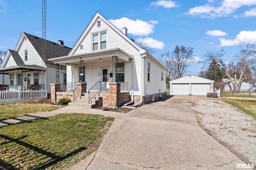
<svg viewBox="0 0 256 170">
<path fill-rule="evenodd" d="M 21 146 L 23 146 L 23 147 L 26 147 L 26 148 L 28 148 L 28 149 L 34 150 L 35 152 L 38 152 L 38 153 L 40 153 L 40 154 L 43 154 L 43 155 L 45 155 L 45 156 L 47 156 L 47 157 L 52 158 L 52 159 L 51 159 L 48 163 L 46 163 L 46 164 L 42 164 L 42 165 L 40 165 L 40 166 L 38 166 L 38 167 L 30 167 L 31 169 L 34 169 L 34 170 L 36 170 L 36 169 L 38 169 L 38 170 L 40 170 L 40 169 L 46 169 L 46 168 L 48 168 L 48 167 L 50 167 L 50 166 L 52 166 L 52 165 L 54 165 L 54 164 L 57 164 L 58 162 L 60 162 L 60 161 L 62 161 L 62 160 L 65 160 L 66 158 L 69 158 L 70 156 L 72 156 L 72 155 L 74 155 L 74 154 L 77 154 L 77 153 L 82 152 L 83 150 L 86 150 L 86 149 L 87 149 L 86 147 L 81 147 L 81 148 L 79 148 L 79 149 L 77 149 L 77 150 L 74 150 L 73 152 L 70 152 L 70 153 L 68 153 L 68 154 L 66 154 L 66 155 L 58 156 L 58 155 L 56 155 L 56 154 L 54 154 L 54 153 L 48 152 L 48 151 L 43 150 L 43 149 L 41 149 L 41 148 L 35 147 L 35 146 L 30 145 L 30 144 L 28 144 L 28 143 L 25 143 L 25 142 L 23 142 L 23 141 L 20 141 L 20 139 L 23 139 L 23 138 L 28 137 L 28 136 L 23 136 L 23 137 L 14 139 L 14 138 L 12 138 L 12 137 L 8 137 L 8 136 L 6 136 L 6 135 L 0 134 L 0 137 L 1 137 L 1 138 L 4 138 L 4 139 L 6 139 L 6 140 L 8 140 L 8 142 L 1 143 L 0 145 L 4 145 L 4 144 L 6 144 L 6 143 L 14 142 L 14 143 L 17 143 L 18 145 L 21 145 Z M 8 162 L 5 162 L 4 160 L 0 159 L 0 170 L 1 170 L 1 168 L 3 168 L 3 169 L 18 169 L 18 168 L 16 168 L 16 167 L 14 167 L 12 164 L 10 164 L 10 163 L 8 163 Z"/>
</svg>

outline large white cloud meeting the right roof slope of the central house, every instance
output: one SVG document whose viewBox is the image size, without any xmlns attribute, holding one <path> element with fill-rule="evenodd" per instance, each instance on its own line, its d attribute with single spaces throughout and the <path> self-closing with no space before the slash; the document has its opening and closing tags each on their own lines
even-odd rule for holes
<svg viewBox="0 0 256 170">
<path fill-rule="evenodd" d="M 109 20 L 113 23 L 118 29 L 122 29 L 126 27 L 128 29 L 128 33 L 132 35 L 148 35 L 153 33 L 154 24 L 158 23 L 158 21 L 142 21 L 142 20 L 131 20 L 129 18 L 120 18 L 118 20 Z"/>
</svg>

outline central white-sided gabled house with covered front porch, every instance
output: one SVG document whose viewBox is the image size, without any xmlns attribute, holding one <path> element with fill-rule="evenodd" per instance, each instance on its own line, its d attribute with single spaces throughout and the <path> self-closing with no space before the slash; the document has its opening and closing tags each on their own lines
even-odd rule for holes
<svg viewBox="0 0 256 170">
<path fill-rule="evenodd" d="M 145 49 L 96 12 L 70 53 L 48 59 L 67 66 L 67 82 L 86 82 L 88 91 L 100 83 L 121 82 L 135 106 L 166 95 L 166 68 Z"/>
</svg>

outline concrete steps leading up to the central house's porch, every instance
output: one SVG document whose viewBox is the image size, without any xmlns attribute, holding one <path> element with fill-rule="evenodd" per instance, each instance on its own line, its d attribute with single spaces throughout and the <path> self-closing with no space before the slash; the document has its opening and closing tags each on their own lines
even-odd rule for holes
<svg viewBox="0 0 256 170">
<path fill-rule="evenodd" d="M 89 104 L 89 94 L 84 93 L 84 96 L 79 96 L 74 102 L 69 102 L 69 106 L 80 106 L 80 107 L 87 107 L 87 108 L 95 108 L 102 106 L 102 96 L 108 96 L 108 92 L 101 92 L 96 94 L 94 98 L 90 101 Z"/>
</svg>

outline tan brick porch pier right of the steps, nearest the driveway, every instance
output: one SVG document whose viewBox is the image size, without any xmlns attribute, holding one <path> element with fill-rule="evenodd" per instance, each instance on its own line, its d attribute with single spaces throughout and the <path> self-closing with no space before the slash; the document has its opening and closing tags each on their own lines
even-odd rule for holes
<svg viewBox="0 0 256 170">
<path fill-rule="evenodd" d="M 115 109 L 121 106 L 120 83 L 109 84 L 109 107 Z"/>
</svg>

